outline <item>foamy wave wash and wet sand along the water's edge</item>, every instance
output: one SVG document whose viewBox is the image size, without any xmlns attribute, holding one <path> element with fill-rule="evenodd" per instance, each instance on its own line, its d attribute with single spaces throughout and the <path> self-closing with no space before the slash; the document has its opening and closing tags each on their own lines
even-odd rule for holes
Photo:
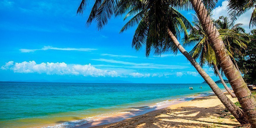
<svg viewBox="0 0 256 128">
<path fill-rule="evenodd" d="M 207 97 L 212 94 L 213 92 L 207 91 L 207 92 L 202 92 L 198 94 L 194 93 L 194 94 L 185 95 L 185 96 L 177 96 L 176 99 L 167 99 L 167 100 L 162 100 L 160 102 L 156 102 L 154 104 L 149 103 L 144 106 L 135 106 L 135 107 L 127 108 L 130 110 L 126 109 L 119 112 L 105 113 L 105 114 L 96 115 L 93 117 L 84 117 L 83 119 L 79 119 L 79 120 L 70 120 L 67 122 L 62 122 L 60 124 L 43 125 L 41 127 L 43 128 L 55 128 L 55 127 L 76 127 L 77 128 L 78 127 L 79 128 L 79 127 L 95 127 L 95 126 L 104 125 L 104 124 L 111 124 L 111 123 L 123 121 L 131 117 L 147 114 L 155 110 L 167 108 L 175 104 L 191 101 L 198 97 Z"/>
</svg>

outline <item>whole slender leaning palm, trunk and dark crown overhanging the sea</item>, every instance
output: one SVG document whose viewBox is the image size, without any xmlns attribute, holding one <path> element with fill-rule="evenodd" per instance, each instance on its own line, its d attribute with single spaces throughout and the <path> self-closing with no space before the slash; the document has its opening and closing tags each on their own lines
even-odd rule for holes
<svg viewBox="0 0 256 128">
<path fill-rule="evenodd" d="M 104 10 L 108 8 L 112 10 L 112 6 L 103 7 L 105 6 L 104 2 L 101 5 L 94 5 L 99 6 L 99 8 L 105 8 Z M 140 48 L 142 48 L 143 45 L 145 45 L 146 56 L 149 56 L 150 51 L 152 50 L 154 51 L 154 54 L 160 55 L 168 51 L 176 54 L 177 50 L 179 49 L 179 51 L 184 54 L 184 56 L 186 56 L 186 58 L 197 69 L 199 74 L 210 85 L 211 89 L 215 92 L 217 97 L 234 115 L 234 117 L 237 118 L 237 120 L 241 124 L 248 123 L 246 117 L 244 116 L 244 112 L 234 103 L 232 103 L 229 98 L 227 98 L 227 96 L 215 84 L 210 76 L 206 74 L 206 72 L 200 67 L 195 59 L 193 59 L 192 56 L 190 56 L 190 54 L 179 43 L 177 37 L 179 37 L 181 32 L 187 36 L 187 29 L 191 28 L 191 25 L 184 16 L 182 16 L 175 9 L 171 8 L 169 5 L 169 1 L 160 0 L 120 0 L 117 1 L 117 6 L 115 6 L 115 16 L 122 15 L 127 11 L 128 14 L 125 16 L 125 19 L 130 15 L 134 15 L 134 17 L 132 17 L 121 29 L 121 32 L 138 24 L 137 29 L 134 33 L 134 38 L 132 40 L 132 46 L 135 49 L 139 50 Z M 83 7 L 79 7 L 78 12 L 82 12 L 80 10 L 82 8 Z M 94 12 L 94 10 L 96 11 Z M 98 28 L 101 29 L 102 25 L 105 25 L 105 23 L 107 23 L 107 20 L 111 18 L 109 16 L 113 14 L 114 11 L 107 10 L 105 13 L 103 13 L 102 11 L 98 12 L 97 10 L 102 9 L 92 9 L 87 23 L 90 24 L 93 19 L 96 19 Z M 100 16 L 97 14 L 99 14 Z M 106 14 L 106 16 L 102 16 L 102 14 Z M 100 19 L 102 17 L 103 19 Z"/>
</svg>

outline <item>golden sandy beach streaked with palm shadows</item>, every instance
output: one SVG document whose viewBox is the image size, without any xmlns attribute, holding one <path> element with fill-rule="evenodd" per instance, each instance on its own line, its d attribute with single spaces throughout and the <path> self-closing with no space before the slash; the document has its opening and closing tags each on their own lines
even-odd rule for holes
<svg viewBox="0 0 256 128">
<path fill-rule="evenodd" d="M 231 98 L 237 102 L 236 98 Z M 126 117 L 127 116 L 127 117 Z M 79 127 L 234 127 L 236 119 L 225 111 L 215 95 L 198 97 L 168 107 L 128 118 L 129 114 L 105 117 Z M 125 119 L 128 118 L 128 119 Z M 125 119 L 125 120 L 122 120 Z M 120 121 L 122 120 L 122 121 Z M 119 122 L 117 122 L 119 121 Z M 112 123 L 115 122 L 115 123 Z M 104 124 L 104 125 L 102 125 Z"/>
</svg>

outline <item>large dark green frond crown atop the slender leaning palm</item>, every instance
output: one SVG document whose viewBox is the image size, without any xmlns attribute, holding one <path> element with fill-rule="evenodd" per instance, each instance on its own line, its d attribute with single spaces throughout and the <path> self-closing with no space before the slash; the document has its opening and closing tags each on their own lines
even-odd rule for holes
<svg viewBox="0 0 256 128">
<path fill-rule="evenodd" d="M 181 1 L 176 1 L 180 3 Z M 188 2 L 188 1 L 187 1 Z M 187 4 L 187 2 L 185 2 Z M 167 30 L 179 38 L 181 34 L 188 38 L 187 29 L 192 26 L 189 21 L 170 5 L 175 1 L 170 0 L 96 0 L 92 11 L 87 20 L 90 25 L 93 20 L 97 22 L 98 29 L 102 29 L 108 20 L 114 16 L 124 16 L 124 20 L 129 21 L 124 25 L 120 32 L 137 26 L 132 39 L 132 47 L 139 50 L 142 46 L 146 47 L 146 56 L 151 51 L 155 55 L 164 52 L 177 53 L 176 46 L 168 36 Z M 83 0 L 77 13 L 83 13 L 87 4 Z"/>
</svg>

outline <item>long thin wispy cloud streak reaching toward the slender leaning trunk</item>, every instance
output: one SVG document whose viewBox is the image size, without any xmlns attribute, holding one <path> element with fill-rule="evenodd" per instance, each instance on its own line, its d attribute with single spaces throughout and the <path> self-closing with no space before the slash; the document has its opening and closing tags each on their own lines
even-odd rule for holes
<svg viewBox="0 0 256 128">
<path fill-rule="evenodd" d="M 182 65 L 166 65 L 166 64 L 153 64 L 153 63 L 133 63 L 133 62 L 126 62 L 126 61 L 111 60 L 111 59 L 92 59 L 92 60 L 104 61 L 104 62 L 115 63 L 115 64 L 132 65 L 128 68 L 134 68 L 134 69 L 185 69 L 185 68 L 189 68 L 188 66 L 182 66 Z"/>
</svg>

